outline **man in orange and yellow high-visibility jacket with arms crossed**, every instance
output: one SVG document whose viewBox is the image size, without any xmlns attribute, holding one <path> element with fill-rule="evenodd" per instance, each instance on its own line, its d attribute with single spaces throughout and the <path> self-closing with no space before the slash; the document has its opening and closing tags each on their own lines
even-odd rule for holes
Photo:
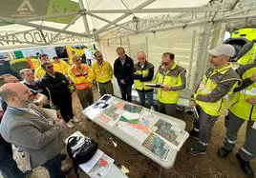
<svg viewBox="0 0 256 178">
<path fill-rule="evenodd" d="M 94 93 L 93 93 L 93 71 L 87 65 L 82 64 L 80 57 L 73 56 L 73 65 L 68 73 L 70 79 L 75 84 L 75 89 L 77 90 L 78 98 L 82 105 L 82 108 L 92 105 L 94 103 Z"/>
</svg>

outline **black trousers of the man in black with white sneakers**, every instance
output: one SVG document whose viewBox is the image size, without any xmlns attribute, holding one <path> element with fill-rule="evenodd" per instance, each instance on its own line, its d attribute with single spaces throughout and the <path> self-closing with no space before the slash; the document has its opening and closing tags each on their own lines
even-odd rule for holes
<svg viewBox="0 0 256 178">
<path fill-rule="evenodd" d="M 59 109 L 63 120 L 67 123 L 74 117 L 72 109 L 72 94 L 65 95 L 60 101 L 57 102 L 57 109 Z"/>
</svg>

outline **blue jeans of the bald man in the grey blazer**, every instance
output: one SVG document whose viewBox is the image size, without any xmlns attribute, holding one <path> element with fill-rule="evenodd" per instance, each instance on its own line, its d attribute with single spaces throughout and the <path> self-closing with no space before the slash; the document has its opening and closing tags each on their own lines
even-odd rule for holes
<svg viewBox="0 0 256 178">
<path fill-rule="evenodd" d="M 43 165 L 47 168 L 50 174 L 50 178 L 65 178 L 65 174 L 61 170 L 61 159 L 60 154 L 48 160 L 46 164 Z"/>
</svg>

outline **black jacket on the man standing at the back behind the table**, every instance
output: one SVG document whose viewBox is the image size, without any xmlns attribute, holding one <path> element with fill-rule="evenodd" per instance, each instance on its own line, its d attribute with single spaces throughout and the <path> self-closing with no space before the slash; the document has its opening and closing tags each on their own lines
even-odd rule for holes
<svg viewBox="0 0 256 178">
<path fill-rule="evenodd" d="M 133 72 L 134 72 L 134 61 L 128 55 L 126 55 L 126 59 L 124 65 L 121 64 L 119 58 L 116 59 L 114 63 L 114 75 L 117 78 L 118 85 L 121 85 L 120 80 L 124 80 L 126 85 L 133 85 Z"/>
</svg>

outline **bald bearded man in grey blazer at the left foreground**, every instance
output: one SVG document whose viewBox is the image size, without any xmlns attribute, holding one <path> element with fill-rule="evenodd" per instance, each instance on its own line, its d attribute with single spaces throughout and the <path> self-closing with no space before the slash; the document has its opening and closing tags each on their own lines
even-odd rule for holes
<svg viewBox="0 0 256 178">
<path fill-rule="evenodd" d="M 31 166 L 48 169 L 51 177 L 64 178 L 61 171 L 61 128 L 37 108 L 30 108 L 32 92 L 20 83 L 0 88 L 0 96 L 8 103 L 0 131 L 3 138 L 30 155 Z"/>
</svg>

